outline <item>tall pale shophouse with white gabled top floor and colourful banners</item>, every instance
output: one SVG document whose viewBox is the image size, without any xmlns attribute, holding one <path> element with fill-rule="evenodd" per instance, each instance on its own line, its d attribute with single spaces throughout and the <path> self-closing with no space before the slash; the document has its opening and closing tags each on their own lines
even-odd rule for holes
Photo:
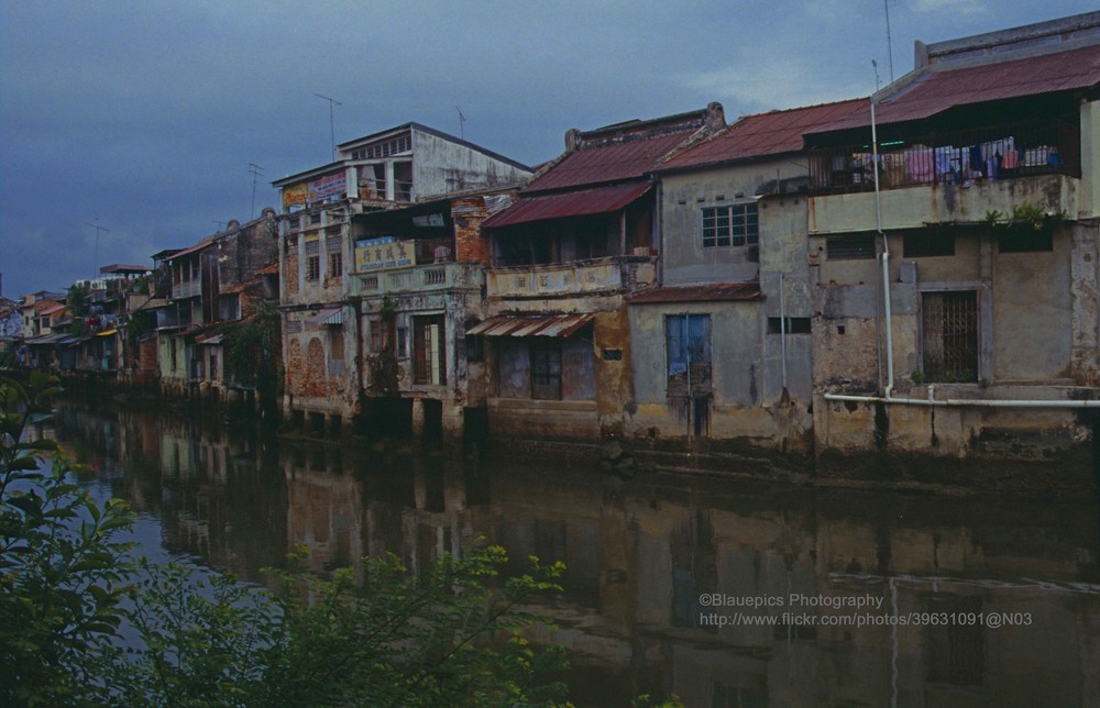
<svg viewBox="0 0 1100 708">
<path fill-rule="evenodd" d="M 418 421 L 422 400 L 430 400 L 432 420 L 446 408 L 439 416 L 448 422 L 440 425 L 461 428 L 464 394 L 452 385 L 465 367 L 454 358 L 455 346 L 446 343 L 457 345 L 463 336 L 458 323 L 464 325 L 465 306 L 449 313 L 447 302 L 463 300 L 476 277 L 452 261 L 473 255 L 459 255 L 457 243 L 429 248 L 427 242 L 455 239 L 465 215 L 455 212 L 462 210 L 455 202 L 415 206 L 507 189 L 526 181 L 530 169 L 419 123 L 343 143 L 337 152 L 331 164 L 273 182 L 284 210 L 284 410 L 312 430 L 336 432 L 363 412 L 364 397 L 405 401 L 396 403 L 397 412 L 404 414 L 409 405 L 408 414 Z M 395 209 L 403 214 L 377 214 Z M 436 265 L 441 247 L 450 254 L 440 251 Z M 381 324 L 372 329 L 374 320 L 385 320 L 392 336 L 383 336 Z M 365 375 L 383 346 L 393 349 L 394 366 L 385 376 Z M 421 364 L 410 354 L 424 357 L 429 350 Z"/>
</svg>

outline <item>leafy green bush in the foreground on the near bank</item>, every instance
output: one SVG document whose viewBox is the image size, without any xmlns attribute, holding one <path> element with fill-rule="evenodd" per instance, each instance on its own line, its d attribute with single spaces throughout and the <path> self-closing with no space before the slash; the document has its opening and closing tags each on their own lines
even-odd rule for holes
<svg viewBox="0 0 1100 708">
<path fill-rule="evenodd" d="M 396 557 L 320 576 L 299 549 L 274 590 L 132 560 L 125 504 L 99 505 L 52 441 L 56 379 L 0 381 L 0 705 L 509 706 L 563 698 L 560 646 L 521 611 L 563 566 L 498 578 L 499 546 L 417 575 Z M 46 455 L 51 472 L 42 472 Z"/>
</svg>

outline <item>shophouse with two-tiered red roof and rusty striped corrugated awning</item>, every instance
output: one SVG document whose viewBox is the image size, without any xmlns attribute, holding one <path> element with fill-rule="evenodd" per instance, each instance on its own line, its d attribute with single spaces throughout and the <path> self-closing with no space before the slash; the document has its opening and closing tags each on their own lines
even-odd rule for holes
<svg viewBox="0 0 1100 708">
<path fill-rule="evenodd" d="M 658 283 L 658 203 L 650 173 L 725 128 L 722 107 L 588 132 L 513 207 L 484 226 L 494 267 L 485 340 L 494 436 L 622 435 L 634 405 L 626 297 Z"/>
</svg>

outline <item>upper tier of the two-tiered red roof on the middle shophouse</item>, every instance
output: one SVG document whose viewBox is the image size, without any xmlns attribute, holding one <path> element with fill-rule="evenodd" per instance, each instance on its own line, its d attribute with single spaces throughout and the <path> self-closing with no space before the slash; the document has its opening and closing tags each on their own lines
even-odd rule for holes
<svg viewBox="0 0 1100 708">
<path fill-rule="evenodd" d="M 579 147 L 528 185 L 521 193 L 638 179 L 652 172 L 662 156 L 688 140 L 695 130 Z"/>
</svg>

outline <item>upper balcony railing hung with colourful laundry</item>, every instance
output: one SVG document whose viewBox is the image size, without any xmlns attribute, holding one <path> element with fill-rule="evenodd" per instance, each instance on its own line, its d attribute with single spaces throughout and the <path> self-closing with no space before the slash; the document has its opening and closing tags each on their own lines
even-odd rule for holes
<svg viewBox="0 0 1100 708">
<path fill-rule="evenodd" d="M 968 186 L 1052 173 L 1080 176 L 1079 131 L 1047 120 L 978 131 L 927 134 L 879 144 L 879 187 Z M 811 191 L 875 188 L 871 146 L 817 148 L 810 156 Z"/>
</svg>

